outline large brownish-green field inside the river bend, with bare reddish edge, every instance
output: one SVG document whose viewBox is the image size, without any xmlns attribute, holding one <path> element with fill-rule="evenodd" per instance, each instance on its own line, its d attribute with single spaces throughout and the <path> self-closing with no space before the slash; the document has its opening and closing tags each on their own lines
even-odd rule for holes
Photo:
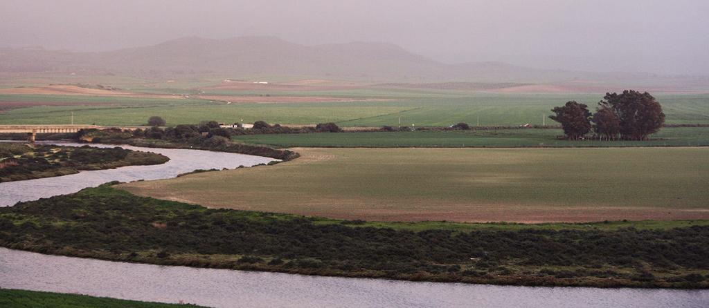
<svg viewBox="0 0 709 308">
<path fill-rule="evenodd" d="M 296 148 L 275 166 L 121 187 L 203 206 L 466 222 L 709 218 L 709 148 Z"/>
</svg>

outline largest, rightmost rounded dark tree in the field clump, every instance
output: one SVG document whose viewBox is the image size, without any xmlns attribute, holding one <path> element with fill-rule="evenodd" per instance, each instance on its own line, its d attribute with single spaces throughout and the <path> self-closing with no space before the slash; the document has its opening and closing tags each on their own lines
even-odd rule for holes
<svg viewBox="0 0 709 308">
<path fill-rule="evenodd" d="M 645 140 L 664 124 L 662 106 L 647 92 L 605 93 L 598 105 L 613 110 L 620 121 L 620 138 L 623 139 Z"/>
</svg>

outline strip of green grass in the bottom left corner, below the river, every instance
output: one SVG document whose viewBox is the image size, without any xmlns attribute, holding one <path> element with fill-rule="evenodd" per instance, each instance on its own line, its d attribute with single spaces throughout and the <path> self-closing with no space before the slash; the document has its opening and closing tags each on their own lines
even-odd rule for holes
<svg viewBox="0 0 709 308">
<path fill-rule="evenodd" d="M 116 300 L 108 297 L 37 292 L 26 290 L 0 289 L 0 307 L 6 308 L 177 308 L 199 307 L 191 304 L 161 304 L 157 302 L 137 302 Z"/>
</svg>

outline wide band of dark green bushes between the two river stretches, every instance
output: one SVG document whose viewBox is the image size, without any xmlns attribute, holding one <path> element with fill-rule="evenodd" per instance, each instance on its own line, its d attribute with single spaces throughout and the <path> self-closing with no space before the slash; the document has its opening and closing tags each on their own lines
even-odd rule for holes
<svg viewBox="0 0 709 308">
<path fill-rule="evenodd" d="M 707 288 L 709 227 L 394 230 L 207 209 L 110 186 L 0 208 L 0 246 L 99 259 L 515 285 Z"/>
</svg>

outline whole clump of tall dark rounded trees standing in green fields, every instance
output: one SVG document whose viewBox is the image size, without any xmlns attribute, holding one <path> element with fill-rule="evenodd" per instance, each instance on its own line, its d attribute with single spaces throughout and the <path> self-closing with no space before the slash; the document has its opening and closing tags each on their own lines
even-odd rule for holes
<svg viewBox="0 0 709 308">
<path fill-rule="evenodd" d="M 549 116 L 562 124 L 564 135 L 571 140 L 579 140 L 587 134 L 605 140 L 646 140 L 664 124 L 662 107 L 650 93 L 625 90 L 623 93 L 605 93 L 598 102 L 595 114 L 588 106 L 570 101 L 561 107 L 554 107 Z"/>
</svg>

